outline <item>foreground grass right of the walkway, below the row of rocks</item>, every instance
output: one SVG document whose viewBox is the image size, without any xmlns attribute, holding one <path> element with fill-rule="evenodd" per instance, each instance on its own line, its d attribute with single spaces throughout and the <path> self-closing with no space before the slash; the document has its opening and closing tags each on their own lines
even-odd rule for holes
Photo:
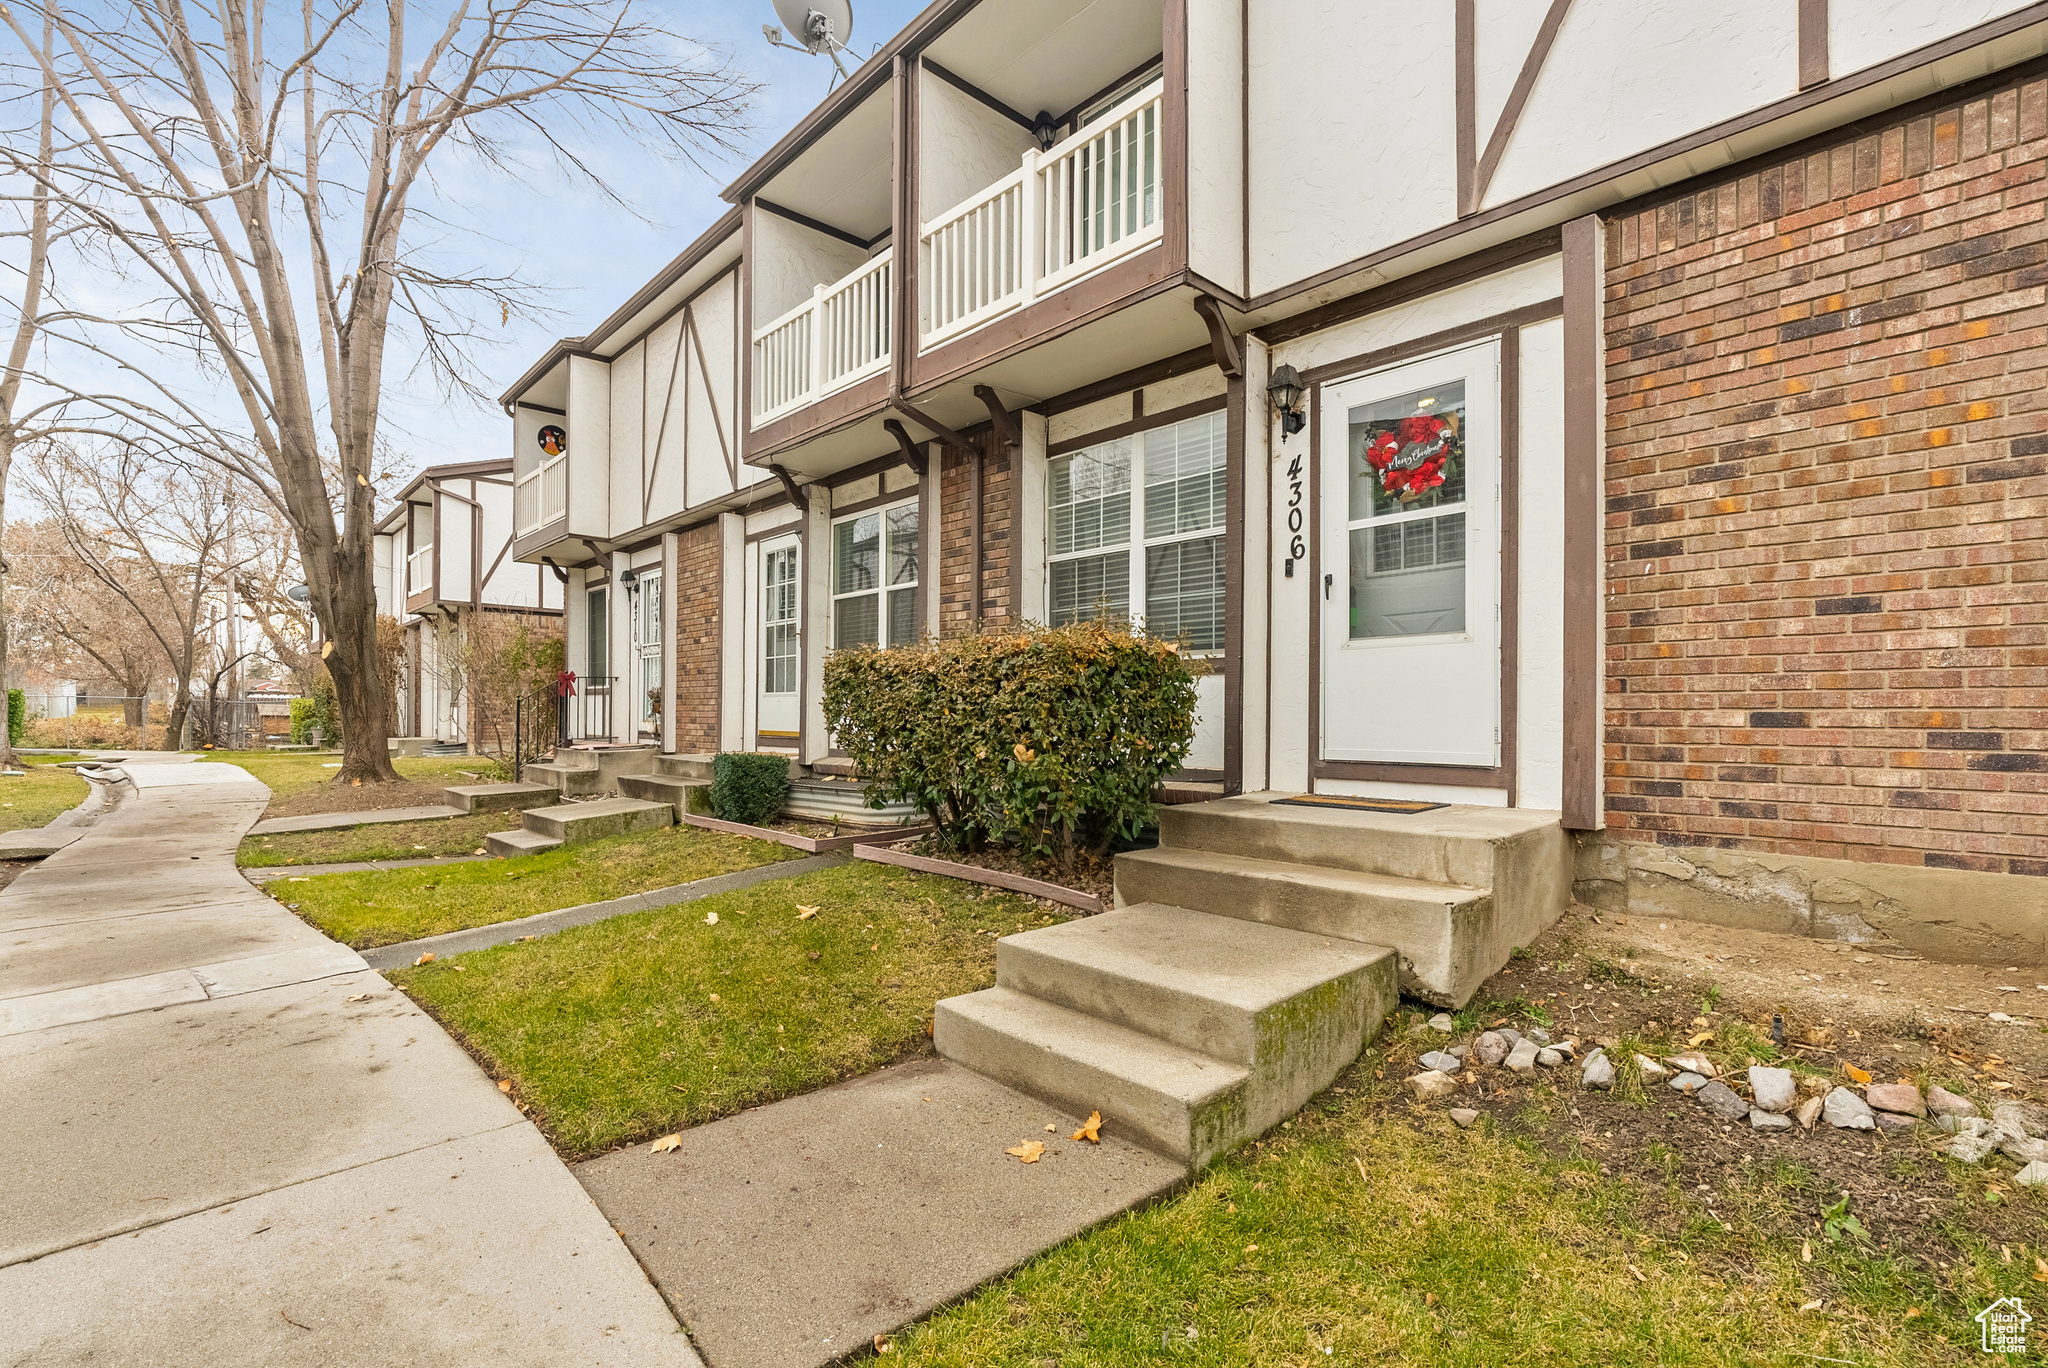
<svg viewBox="0 0 2048 1368">
<path fill-rule="evenodd" d="M 1493 1122 L 1458 1130 L 1370 1059 L 1184 1194 L 903 1331 L 889 1362 L 1962 1364 L 1982 1360 L 1976 1311 L 2040 1288 L 2034 1251 L 1968 1235 L 1939 1270 L 1821 1233 L 1808 1264 L 1741 1214 L 1751 1194 L 1722 1194 L 1733 1229 L 1704 1206 L 1657 1225 L 1649 1204 L 1679 1194 Z"/>
</svg>

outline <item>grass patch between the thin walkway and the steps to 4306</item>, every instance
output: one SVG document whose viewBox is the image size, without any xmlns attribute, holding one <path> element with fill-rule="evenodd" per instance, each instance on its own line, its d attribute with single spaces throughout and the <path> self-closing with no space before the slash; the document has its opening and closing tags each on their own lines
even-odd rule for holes
<svg viewBox="0 0 2048 1368">
<path fill-rule="evenodd" d="M 393 979 L 575 1159 L 926 1051 L 932 1003 L 993 983 L 995 938 L 1053 920 L 844 864 Z"/>
</svg>

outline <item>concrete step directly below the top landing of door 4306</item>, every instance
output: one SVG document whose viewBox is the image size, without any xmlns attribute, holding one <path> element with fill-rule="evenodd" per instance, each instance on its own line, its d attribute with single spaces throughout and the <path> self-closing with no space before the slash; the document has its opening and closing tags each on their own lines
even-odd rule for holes
<svg viewBox="0 0 2048 1368">
<path fill-rule="evenodd" d="M 1284 864 L 1212 850 L 1128 850 L 1116 856 L 1118 905 L 1167 903 L 1315 936 L 1393 946 L 1401 989 L 1464 1006 L 1513 942 L 1495 946 L 1487 889 Z M 1554 915 L 1554 913 L 1552 913 Z"/>
</svg>

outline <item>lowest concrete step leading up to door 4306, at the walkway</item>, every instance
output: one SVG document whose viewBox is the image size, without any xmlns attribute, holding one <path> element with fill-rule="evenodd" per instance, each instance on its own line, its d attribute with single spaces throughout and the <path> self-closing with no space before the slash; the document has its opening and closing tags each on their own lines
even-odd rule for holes
<svg viewBox="0 0 2048 1368">
<path fill-rule="evenodd" d="M 938 1053 L 1200 1167 L 1243 1139 L 1251 1071 L 1008 987 L 938 1003 Z M 1024 1137 L 1030 1139 L 1030 1137 Z"/>
</svg>

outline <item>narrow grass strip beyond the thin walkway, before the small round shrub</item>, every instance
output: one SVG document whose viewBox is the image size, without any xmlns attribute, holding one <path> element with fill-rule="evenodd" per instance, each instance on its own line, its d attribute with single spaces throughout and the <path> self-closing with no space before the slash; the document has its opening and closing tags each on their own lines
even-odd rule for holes
<svg viewBox="0 0 2048 1368">
<path fill-rule="evenodd" d="M 510 860 L 285 879 L 268 893 L 328 936 L 369 950 L 793 858 L 774 842 L 664 827 Z"/>
</svg>

